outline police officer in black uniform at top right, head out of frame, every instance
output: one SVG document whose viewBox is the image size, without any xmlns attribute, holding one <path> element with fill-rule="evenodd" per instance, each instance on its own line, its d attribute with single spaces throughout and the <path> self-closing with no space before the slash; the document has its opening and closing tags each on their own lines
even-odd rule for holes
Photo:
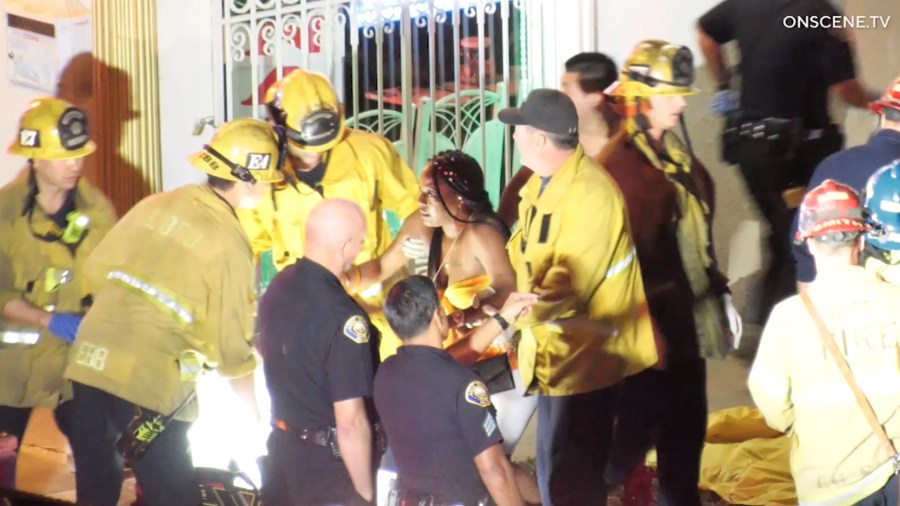
<svg viewBox="0 0 900 506">
<path fill-rule="evenodd" d="M 700 47 L 719 86 L 713 109 L 726 115 L 723 158 L 740 166 L 770 228 L 760 321 L 794 291 L 791 218 L 816 165 L 843 145 L 828 114 L 829 91 L 855 107 L 869 102 L 848 32 L 795 26 L 839 14 L 827 0 L 724 0 L 699 21 Z M 741 53 L 739 93 L 730 89 L 721 51 L 732 40 Z"/>
</svg>

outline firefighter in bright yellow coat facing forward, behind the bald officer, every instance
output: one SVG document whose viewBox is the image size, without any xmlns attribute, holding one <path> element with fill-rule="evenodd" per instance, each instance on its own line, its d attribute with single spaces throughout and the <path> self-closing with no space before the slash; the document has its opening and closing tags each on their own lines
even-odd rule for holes
<svg viewBox="0 0 900 506">
<path fill-rule="evenodd" d="M 302 257 L 307 217 L 325 198 L 351 200 L 366 214 L 357 263 L 384 253 L 391 244 L 384 212 L 404 219 L 418 209 L 416 176 L 394 146 L 379 135 L 346 128 L 337 95 L 320 74 L 295 70 L 285 76 L 269 110 L 285 129 L 288 156 L 284 182 L 274 185 L 256 209 L 238 212 L 254 254 L 271 250 L 279 271 Z M 380 306 L 382 297 L 363 298 L 371 308 Z M 389 333 L 380 313 L 372 316 Z"/>
</svg>

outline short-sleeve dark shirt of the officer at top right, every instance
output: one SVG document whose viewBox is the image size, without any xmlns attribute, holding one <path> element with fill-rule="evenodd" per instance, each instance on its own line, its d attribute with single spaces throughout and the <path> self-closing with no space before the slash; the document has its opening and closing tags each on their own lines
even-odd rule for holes
<svg viewBox="0 0 900 506">
<path fill-rule="evenodd" d="M 846 33 L 808 24 L 840 14 L 826 0 L 725 0 L 700 26 L 719 44 L 737 40 L 743 111 L 811 130 L 831 123 L 829 87 L 856 77 Z"/>
</svg>

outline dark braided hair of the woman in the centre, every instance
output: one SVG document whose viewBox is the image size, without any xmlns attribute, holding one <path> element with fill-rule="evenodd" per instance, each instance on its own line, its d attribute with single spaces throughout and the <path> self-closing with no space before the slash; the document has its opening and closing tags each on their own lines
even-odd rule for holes
<svg viewBox="0 0 900 506">
<path fill-rule="evenodd" d="M 477 160 L 459 150 L 442 151 L 429 161 L 429 165 L 437 199 L 454 221 L 466 224 L 487 223 L 495 226 L 505 238 L 509 238 L 509 228 L 497 216 L 484 188 L 484 172 Z M 468 218 L 457 216 L 450 210 L 441 195 L 440 183 L 460 196 L 462 205 L 471 211 Z M 443 238 L 444 230 L 438 227 L 431 237 L 431 246 L 428 251 L 429 276 L 434 275 L 441 263 Z"/>
</svg>

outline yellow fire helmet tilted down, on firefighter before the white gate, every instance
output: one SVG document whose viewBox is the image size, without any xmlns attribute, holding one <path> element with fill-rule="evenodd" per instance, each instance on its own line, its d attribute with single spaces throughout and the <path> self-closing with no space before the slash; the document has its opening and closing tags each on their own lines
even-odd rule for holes
<svg viewBox="0 0 900 506">
<path fill-rule="evenodd" d="M 303 69 L 291 72 L 281 80 L 273 105 L 284 111 L 288 143 L 300 150 L 328 151 L 344 135 L 337 94 L 321 74 Z"/>
</svg>

